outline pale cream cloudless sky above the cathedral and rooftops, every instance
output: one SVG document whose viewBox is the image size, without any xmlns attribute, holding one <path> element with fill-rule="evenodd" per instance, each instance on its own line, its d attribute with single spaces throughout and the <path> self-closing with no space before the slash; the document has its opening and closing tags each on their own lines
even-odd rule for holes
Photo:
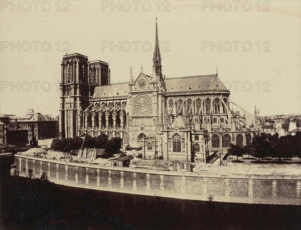
<svg viewBox="0 0 301 230">
<path fill-rule="evenodd" d="M 109 63 L 112 83 L 152 73 L 155 23 L 167 78 L 215 74 L 260 115 L 301 113 L 300 1 L 1 1 L 0 113 L 59 114 L 61 61 Z"/>
</svg>

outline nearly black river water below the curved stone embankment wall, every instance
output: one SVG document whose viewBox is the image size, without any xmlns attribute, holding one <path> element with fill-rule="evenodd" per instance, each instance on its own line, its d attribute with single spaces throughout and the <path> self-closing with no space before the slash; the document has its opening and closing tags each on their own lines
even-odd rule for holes
<svg viewBox="0 0 301 230">
<path fill-rule="evenodd" d="M 16 177 L 2 186 L 4 229 L 298 229 L 300 206 L 193 201 L 68 188 Z"/>
</svg>

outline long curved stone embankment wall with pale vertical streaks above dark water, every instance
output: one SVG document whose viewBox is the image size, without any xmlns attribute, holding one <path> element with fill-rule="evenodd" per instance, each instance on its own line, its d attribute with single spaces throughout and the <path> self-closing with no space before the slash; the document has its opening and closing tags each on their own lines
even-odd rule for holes
<svg viewBox="0 0 301 230">
<path fill-rule="evenodd" d="M 15 155 L 19 176 L 46 173 L 66 186 L 137 195 L 238 203 L 300 205 L 301 179 L 279 175 L 218 175 L 100 167 L 75 162 Z"/>
</svg>

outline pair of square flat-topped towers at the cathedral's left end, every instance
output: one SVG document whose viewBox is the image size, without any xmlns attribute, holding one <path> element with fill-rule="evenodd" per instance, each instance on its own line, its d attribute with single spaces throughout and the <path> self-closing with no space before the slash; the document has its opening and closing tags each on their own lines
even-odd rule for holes
<svg viewBox="0 0 301 230">
<path fill-rule="evenodd" d="M 80 113 L 89 106 L 95 86 L 110 84 L 110 69 L 108 63 L 89 62 L 78 53 L 65 54 L 61 66 L 60 132 L 64 138 L 78 134 Z"/>
</svg>

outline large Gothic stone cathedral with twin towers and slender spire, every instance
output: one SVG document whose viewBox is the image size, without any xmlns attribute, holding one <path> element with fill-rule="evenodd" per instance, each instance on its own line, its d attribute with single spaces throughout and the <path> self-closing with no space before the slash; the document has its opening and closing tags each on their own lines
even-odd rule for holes
<svg viewBox="0 0 301 230">
<path fill-rule="evenodd" d="M 128 82 L 111 84 L 108 63 L 64 55 L 61 136 L 105 133 L 120 137 L 125 149 L 141 150 L 144 159 L 204 162 L 259 133 L 256 108 L 251 115 L 232 102 L 218 73 L 166 78 L 161 61 L 157 19 L 153 74 L 141 68 L 134 78 L 130 68 Z"/>
</svg>

